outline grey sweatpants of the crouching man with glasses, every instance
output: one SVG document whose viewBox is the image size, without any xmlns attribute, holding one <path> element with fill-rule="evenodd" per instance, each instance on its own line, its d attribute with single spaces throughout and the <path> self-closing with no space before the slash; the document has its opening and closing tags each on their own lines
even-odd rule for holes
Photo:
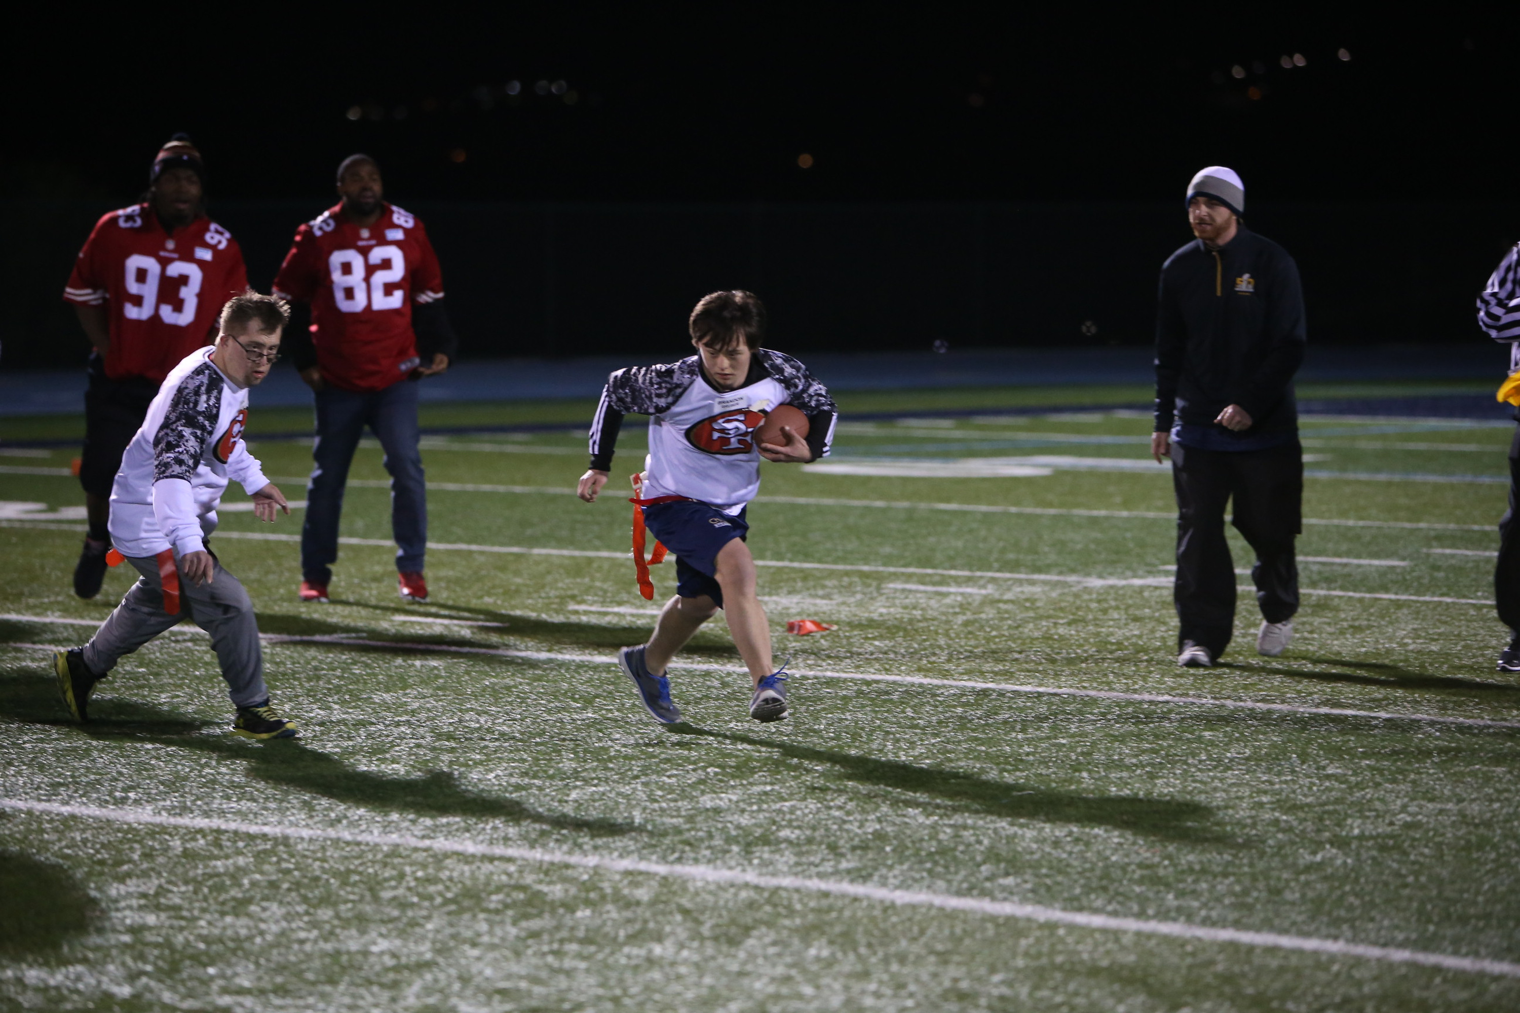
<svg viewBox="0 0 1520 1013">
<path fill-rule="evenodd" d="M 126 562 L 137 568 L 141 580 L 122 598 L 122 604 L 106 617 L 96 635 L 85 644 L 85 665 L 105 676 L 122 655 L 154 639 L 184 618 L 211 635 L 211 650 L 222 665 L 233 705 L 246 708 L 269 699 L 264 688 L 264 655 L 258 645 L 258 624 L 254 603 L 237 577 L 214 563 L 214 579 L 196 585 L 179 579 L 179 615 L 164 612 L 164 592 L 158 580 L 158 560 L 152 556 Z"/>
</svg>

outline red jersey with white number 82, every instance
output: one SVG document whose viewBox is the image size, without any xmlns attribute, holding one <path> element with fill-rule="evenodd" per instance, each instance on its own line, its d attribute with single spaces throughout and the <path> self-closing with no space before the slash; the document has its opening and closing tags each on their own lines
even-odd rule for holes
<svg viewBox="0 0 1520 1013">
<path fill-rule="evenodd" d="M 416 216 L 385 204 L 359 228 L 344 205 L 295 231 L 275 295 L 312 304 L 312 343 L 322 380 L 344 390 L 383 390 L 418 366 L 412 304 L 444 298 L 438 254 Z"/>
</svg>

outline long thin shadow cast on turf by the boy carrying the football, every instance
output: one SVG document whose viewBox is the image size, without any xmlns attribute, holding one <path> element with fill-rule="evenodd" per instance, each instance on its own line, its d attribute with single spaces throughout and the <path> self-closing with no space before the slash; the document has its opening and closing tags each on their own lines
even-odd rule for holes
<svg viewBox="0 0 1520 1013">
<path fill-rule="evenodd" d="M 752 735 L 740 735 L 737 732 L 713 732 L 687 723 L 670 724 L 669 731 L 679 735 L 702 735 L 774 749 L 792 759 L 831 764 L 839 768 L 839 776 L 847 781 L 936 796 L 955 808 L 970 813 L 986 813 L 988 816 L 1015 820 L 1043 820 L 1046 823 L 1111 826 L 1187 843 L 1230 843 L 1230 838 L 1224 834 L 1204 826 L 1204 823 L 1213 819 L 1213 809 L 1199 802 L 1050 791 L 1031 784 L 993 781 L 959 770 L 936 770 L 898 759 L 856 756 L 854 753 L 795 746 L 792 743 L 754 738 Z"/>
</svg>

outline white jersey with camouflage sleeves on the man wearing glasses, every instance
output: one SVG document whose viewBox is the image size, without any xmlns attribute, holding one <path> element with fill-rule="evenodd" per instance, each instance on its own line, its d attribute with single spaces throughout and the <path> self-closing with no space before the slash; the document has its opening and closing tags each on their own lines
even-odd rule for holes
<svg viewBox="0 0 1520 1013">
<path fill-rule="evenodd" d="M 111 486 L 111 544 L 123 556 L 166 548 L 195 553 L 216 530 L 226 483 L 248 495 L 269 484 L 248 453 L 248 389 L 236 386 L 199 348 L 175 366 L 147 407 Z"/>
</svg>

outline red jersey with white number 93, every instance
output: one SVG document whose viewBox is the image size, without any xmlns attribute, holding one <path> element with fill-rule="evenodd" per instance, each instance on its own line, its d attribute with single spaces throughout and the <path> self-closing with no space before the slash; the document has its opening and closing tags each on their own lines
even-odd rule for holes
<svg viewBox="0 0 1520 1013">
<path fill-rule="evenodd" d="M 222 307 L 246 287 L 243 251 L 220 225 L 202 216 L 170 235 L 149 205 L 134 204 L 96 222 L 64 299 L 108 305 L 106 377 L 163 383 L 210 343 Z"/>
</svg>

